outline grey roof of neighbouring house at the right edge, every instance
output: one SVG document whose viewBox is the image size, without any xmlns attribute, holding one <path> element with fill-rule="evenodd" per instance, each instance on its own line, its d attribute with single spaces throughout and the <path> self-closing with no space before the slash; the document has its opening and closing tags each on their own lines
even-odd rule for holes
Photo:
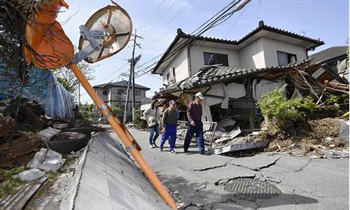
<svg viewBox="0 0 350 210">
<path fill-rule="evenodd" d="M 320 52 L 316 52 L 312 55 L 309 55 L 309 57 L 313 58 L 312 62 L 325 62 L 330 59 L 336 59 L 337 57 L 342 57 L 347 55 L 347 50 L 348 46 L 335 46 L 335 47 L 330 47 L 325 50 L 322 50 Z"/>
</svg>

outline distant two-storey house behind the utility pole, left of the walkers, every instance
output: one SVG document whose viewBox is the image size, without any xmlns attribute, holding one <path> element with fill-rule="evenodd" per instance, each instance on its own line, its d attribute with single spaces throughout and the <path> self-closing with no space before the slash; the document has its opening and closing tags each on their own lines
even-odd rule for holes
<svg viewBox="0 0 350 210">
<path fill-rule="evenodd" d="M 150 88 L 135 84 L 135 106 L 139 108 L 141 104 L 148 103 L 149 99 L 146 97 L 146 91 Z M 94 91 L 97 92 L 99 97 L 106 105 L 117 105 L 124 111 L 125 102 L 127 97 L 127 80 L 123 80 L 116 83 L 105 83 L 101 85 L 95 85 Z M 132 111 L 132 88 L 130 88 L 130 97 L 128 100 L 128 116 Z"/>
</svg>

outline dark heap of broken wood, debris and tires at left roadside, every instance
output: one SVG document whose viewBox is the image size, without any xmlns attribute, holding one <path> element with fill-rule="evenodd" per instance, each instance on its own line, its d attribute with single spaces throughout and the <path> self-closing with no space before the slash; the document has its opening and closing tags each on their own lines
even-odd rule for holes
<svg viewBox="0 0 350 210">
<path fill-rule="evenodd" d="M 84 139 L 86 145 L 90 133 L 97 131 L 104 130 L 82 120 L 49 118 L 45 116 L 45 111 L 40 105 L 27 99 L 22 99 L 20 106 L 17 100 L 3 100 L 0 102 L 0 168 L 26 165 L 41 146 L 51 148 L 51 145 L 62 145 L 66 146 L 65 152 L 69 153 L 72 143 L 64 139 L 73 141 L 72 138 L 76 136 L 71 135 L 72 132 L 80 135 L 80 139 Z M 45 132 L 52 132 L 52 135 L 49 138 L 45 137 Z M 82 137 L 81 133 L 85 137 Z M 85 145 L 80 144 L 78 147 Z M 78 148 L 72 150 L 76 149 Z"/>
</svg>

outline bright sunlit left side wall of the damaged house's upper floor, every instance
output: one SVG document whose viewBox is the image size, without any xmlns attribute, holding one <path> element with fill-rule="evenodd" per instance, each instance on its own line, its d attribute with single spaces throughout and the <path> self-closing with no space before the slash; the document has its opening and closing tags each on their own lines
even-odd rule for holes
<svg viewBox="0 0 350 210">
<path fill-rule="evenodd" d="M 188 59 L 187 59 L 187 48 L 184 48 L 179 54 L 175 55 L 172 62 L 169 63 L 167 67 L 165 67 L 162 76 L 163 76 L 163 84 L 167 85 L 167 74 L 170 73 L 170 79 L 174 78 L 172 69 L 175 68 L 175 79 L 176 83 L 188 78 Z"/>
</svg>

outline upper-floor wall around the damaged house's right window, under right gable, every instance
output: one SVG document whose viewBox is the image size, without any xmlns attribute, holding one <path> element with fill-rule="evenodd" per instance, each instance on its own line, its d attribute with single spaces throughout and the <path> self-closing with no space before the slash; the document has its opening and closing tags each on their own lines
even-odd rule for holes
<svg viewBox="0 0 350 210">
<path fill-rule="evenodd" d="M 278 65 L 277 51 L 295 54 L 297 55 L 297 61 L 307 58 L 307 52 L 304 47 L 265 37 L 260 38 L 260 41 L 263 45 L 265 66 L 267 67 Z"/>
</svg>

